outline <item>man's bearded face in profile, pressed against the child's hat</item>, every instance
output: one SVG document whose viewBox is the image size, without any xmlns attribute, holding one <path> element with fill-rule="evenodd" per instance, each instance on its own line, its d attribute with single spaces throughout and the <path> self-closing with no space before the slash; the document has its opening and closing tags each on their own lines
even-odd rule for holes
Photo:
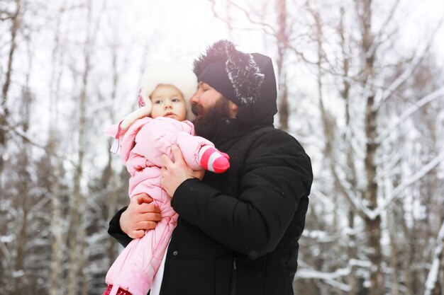
<svg viewBox="0 0 444 295">
<path fill-rule="evenodd" d="M 199 82 L 199 88 L 191 98 L 192 112 L 196 115 L 196 134 L 212 139 L 222 119 L 231 117 L 230 101 L 207 83 Z"/>
</svg>

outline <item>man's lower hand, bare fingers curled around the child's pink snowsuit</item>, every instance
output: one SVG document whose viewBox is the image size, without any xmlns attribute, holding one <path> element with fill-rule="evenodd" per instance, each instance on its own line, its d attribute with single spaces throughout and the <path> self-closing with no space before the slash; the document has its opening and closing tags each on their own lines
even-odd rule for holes
<svg viewBox="0 0 444 295">
<path fill-rule="evenodd" d="M 157 204 L 147 194 L 135 195 L 119 220 L 121 229 L 130 238 L 142 238 L 145 231 L 154 229 L 162 216 Z"/>
</svg>

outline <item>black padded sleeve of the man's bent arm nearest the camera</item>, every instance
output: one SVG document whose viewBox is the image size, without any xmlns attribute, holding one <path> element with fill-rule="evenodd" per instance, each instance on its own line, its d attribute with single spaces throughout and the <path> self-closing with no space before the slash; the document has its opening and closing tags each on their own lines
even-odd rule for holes
<svg viewBox="0 0 444 295">
<path fill-rule="evenodd" d="M 237 197 L 191 179 L 174 192 L 172 206 L 213 240 L 256 258 L 276 248 L 312 180 L 310 158 L 296 139 L 267 134 L 247 154 Z"/>
</svg>

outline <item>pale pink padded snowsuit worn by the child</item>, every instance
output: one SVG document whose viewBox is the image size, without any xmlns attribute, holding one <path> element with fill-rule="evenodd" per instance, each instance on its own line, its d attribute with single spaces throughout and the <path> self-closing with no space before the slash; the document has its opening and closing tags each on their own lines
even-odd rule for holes
<svg viewBox="0 0 444 295">
<path fill-rule="evenodd" d="M 106 129 L 116 137 L 118 125 Z M 160 207 L 162 220 L 155 229 L 145 231 L 143 238 L 136 238 L 122 251 L 106 274 L 106 284 L 112 284 L 111 295 L 118 287 L 133 295 L 146 295 L 152 286 L 157 269 L 177 224 L 177 213 L 171 207 L 171 197 L 160 187 L 160 156 L 172 158 L 171 146 L 177 144 L 184 160 L 193 170 L 201 169 L 198 153 L 201 146 L 211 145 L 202 137 L 194 135 L 194 126 L 189 121 L 177 121 L 169 117 L 143 117 L 136 120 L 124 132 L 118 134 L 120 155 L 128 172 L 129 197 L 147 193 Z"/>
</svg>

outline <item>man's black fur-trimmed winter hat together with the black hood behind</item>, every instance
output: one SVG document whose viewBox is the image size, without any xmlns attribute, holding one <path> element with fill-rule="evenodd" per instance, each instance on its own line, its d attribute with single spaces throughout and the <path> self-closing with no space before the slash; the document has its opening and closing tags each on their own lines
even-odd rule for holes
<svg viewBox="0 0 444 295">
<path fill-rule="evenodd" d="M 240 52 L 232 42 L 220 40 L 194 60 L 193 70 L 198 81 L 239 106 L 238 119 L 248 125 L 272 124 L 277 88 L 270 57 Z"/>
</svg>

